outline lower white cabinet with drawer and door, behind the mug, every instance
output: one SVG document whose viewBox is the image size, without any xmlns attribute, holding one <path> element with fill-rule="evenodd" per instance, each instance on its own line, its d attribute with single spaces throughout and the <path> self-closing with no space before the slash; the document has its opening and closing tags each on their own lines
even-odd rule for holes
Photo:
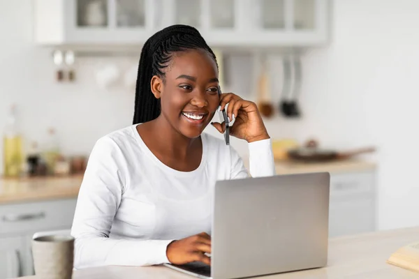
<svg viewBox="0 0 419 279">
<path fill-rule="evenodd" d="M 0 204 L 0 279 L 34 274 L 33 234 L 71 228 L 76 202 L 72 198 Z"/>
</svg>

